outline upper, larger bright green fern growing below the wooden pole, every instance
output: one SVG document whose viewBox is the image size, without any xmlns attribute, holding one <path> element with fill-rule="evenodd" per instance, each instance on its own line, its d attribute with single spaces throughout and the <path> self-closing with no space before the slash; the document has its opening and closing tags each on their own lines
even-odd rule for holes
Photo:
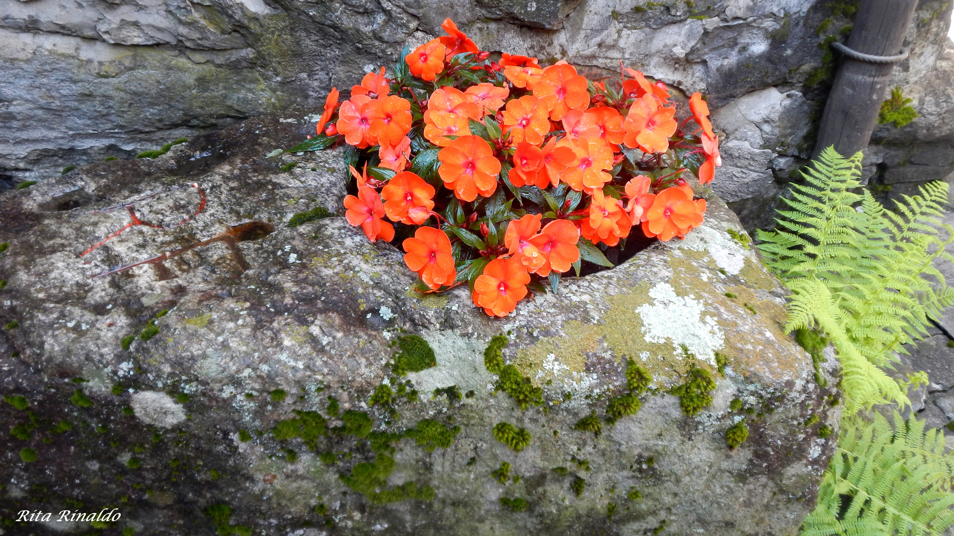
<svg viewBox="0 0 954 536">
<path fill-rule="evenodd" d="M 806 183 L 783 198 L 791 210 L 778 211 L 778 228 L 758 231 L 766 265 L 792 291 L 786 330 L 817 327 L 835 344 L 849 415 L 908 403 L 879 367 L 897 361 L 904 344 L 927 335 L 928 318 L 954 304 L 954 289 L 934 266 L 954 260 L 945 250 L 954 229 L 940 218 L 947 184 L 928 183 L 887 211 L 869 192 L 856 193 L 861 153 L 844 158 L 828 148 L 802 175 Z"/>
</svg>

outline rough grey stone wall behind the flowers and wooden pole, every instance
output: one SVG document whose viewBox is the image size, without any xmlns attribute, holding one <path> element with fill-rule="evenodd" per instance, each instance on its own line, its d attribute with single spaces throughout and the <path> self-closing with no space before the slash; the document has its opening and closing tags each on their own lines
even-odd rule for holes
<svg viewBox="0 0 954 536">
<path fill-rule="evenodd" d="M 810 155 L 850 3 L 813 0 L 29 0 L 0 7 L 0 181 L 128 158 L 178 136 L 320 104 L 450 16 L 485 50 L 619 61 L 709 95 L 725 134 L 714 188 L 750 228 Z M 951 5 L 921 2 L 896 85 L 922 114 L 882 126 L 869 175 L 907 192 L 954 170 Z M 840 14 L 842 13 L 842 14 Z M 833 16 L 834 14 L 834 16 Z M 882 190 L 886 190 L 882 189 Z"/>
</svg>

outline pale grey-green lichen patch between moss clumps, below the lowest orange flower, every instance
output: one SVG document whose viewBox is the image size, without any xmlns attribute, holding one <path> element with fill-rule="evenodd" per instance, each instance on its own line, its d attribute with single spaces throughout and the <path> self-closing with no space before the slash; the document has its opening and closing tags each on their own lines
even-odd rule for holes
<svg viewBox="0 0 954 536">
<path fill-rule="evenodd" d="M 452 331 L 425 331 L 421 337 L 437 359 L 437 366 L 407 374 L 422 396 L 450 385 L 457 385 L 462 393 L 483 393 L 487 383 L 494 381 L 484 367 L 484 349 L 489 340 L 468 339 Z"/>
</svg>

